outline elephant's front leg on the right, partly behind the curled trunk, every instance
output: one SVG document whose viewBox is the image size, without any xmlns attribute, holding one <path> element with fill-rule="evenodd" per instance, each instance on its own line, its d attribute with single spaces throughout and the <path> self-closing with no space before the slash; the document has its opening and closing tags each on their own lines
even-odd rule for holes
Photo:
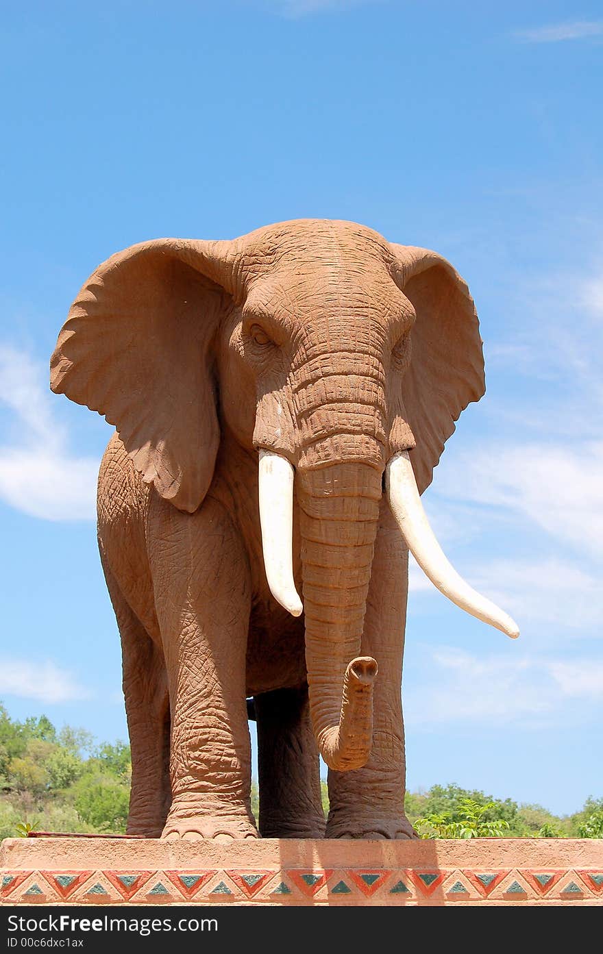
<svg viewBox="0 0 603 954">
<path fill-rule="evenodd" d="M 416 838 L 405 816 L 405 730 L 402 662 L 408 551 L 382 501 L 364 617 L 364 655 L 379 665 L 373 695 L 371 754 L 362 769 L 329 770 L 326 838 Z"/>
</svg>

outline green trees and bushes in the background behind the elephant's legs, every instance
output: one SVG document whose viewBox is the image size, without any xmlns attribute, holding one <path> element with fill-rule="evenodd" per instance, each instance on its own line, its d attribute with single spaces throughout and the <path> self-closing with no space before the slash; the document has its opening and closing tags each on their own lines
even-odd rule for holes
<svg viewBox="0 0 603 954">
<path fill-rule="evenodd" d="M 96 744 L 83 729 L 60 730 L 47 716 L 11 719 L 0 703 L 0 838 L 38 831 L 125 832 L 132 765 L 125 742 Z M 328 793 L 322 782 L 322 806 Z M 541 805 L 520 805 L 458 785 L 408 792 L 406 815 L 426 838 L 603 838 L 603 798 L 556 818 Z M 252 784 L 258 817 L 258 786 Z"/>
</svg>

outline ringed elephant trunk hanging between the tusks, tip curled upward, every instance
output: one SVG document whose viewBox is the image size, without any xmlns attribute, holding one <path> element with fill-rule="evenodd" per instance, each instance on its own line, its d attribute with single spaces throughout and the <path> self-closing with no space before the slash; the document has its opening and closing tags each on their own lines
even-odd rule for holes
<svg viewBox="0 0 603 954">
<path fill-rule="evenodd" d="M 360 652 L 381 471 L 356 461 L 300 468 L 297 495 L 310 715 L 323 760 L 344 772 L 364 765 L 372 741 L 377 663 Z"/>
</svg>

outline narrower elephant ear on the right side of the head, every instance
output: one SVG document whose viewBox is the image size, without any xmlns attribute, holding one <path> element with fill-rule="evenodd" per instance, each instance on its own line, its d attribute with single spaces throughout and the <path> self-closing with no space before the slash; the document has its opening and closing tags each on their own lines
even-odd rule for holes
<svg viewBox="0 0 603 954">
<path fill-rule="evenodd" d="M 484 354 L 466 282 L 435 252 L 391 244 L 394 277 L 415 308 L 403 403 L 416 446 L 409 451 L 419 492 L 433 477 L 454 422 L 486 391 Z"/>
</svg>

